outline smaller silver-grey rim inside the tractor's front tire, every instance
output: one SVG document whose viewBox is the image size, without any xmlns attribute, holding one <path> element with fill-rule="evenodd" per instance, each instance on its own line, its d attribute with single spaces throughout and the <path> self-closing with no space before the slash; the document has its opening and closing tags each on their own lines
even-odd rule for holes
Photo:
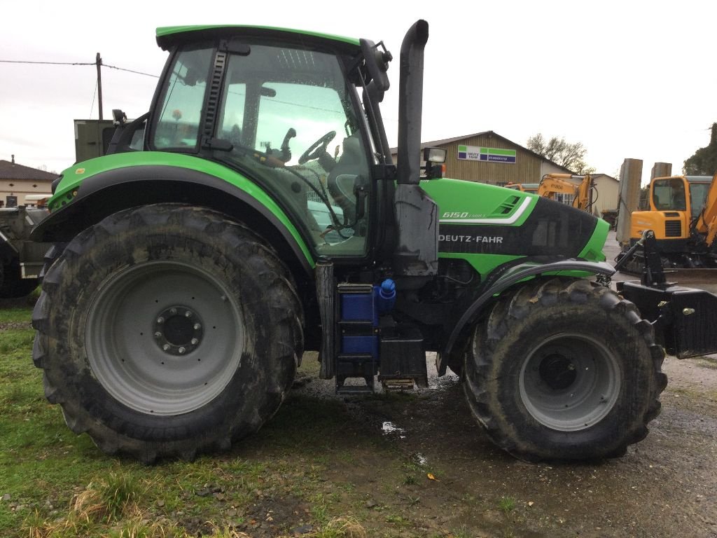
<svg viewBox="0 0 717 538">
<path fill-rule="evenodd" d="M 557 334 L 541 342 L 523 362 L 521 401 L 532 417 L 560 431 L 599 423 L 617 402 L 619 363 L 601 341 Z"/>
</svg>

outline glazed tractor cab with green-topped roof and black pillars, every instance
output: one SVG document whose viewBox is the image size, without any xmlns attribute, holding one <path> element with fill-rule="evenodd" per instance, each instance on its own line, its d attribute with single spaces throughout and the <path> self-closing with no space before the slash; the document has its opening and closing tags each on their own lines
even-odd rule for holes
<svg viewBox="0 0 717 538">
<path fill-rule="evenodd" d="M 171 58 L 151 111 L 115 136 L 115 151 L 138 149 L 144 131 L 143 151 L 199 156 L 250 178 L 317 255 L 366 255 L 371 169 L 390 153 L 371 137 L 383 126 L 359 93 L 387 88 L 389 53 L 364 39 L 246 27 L 163 28 L 157 41 Z"/>
</svg>

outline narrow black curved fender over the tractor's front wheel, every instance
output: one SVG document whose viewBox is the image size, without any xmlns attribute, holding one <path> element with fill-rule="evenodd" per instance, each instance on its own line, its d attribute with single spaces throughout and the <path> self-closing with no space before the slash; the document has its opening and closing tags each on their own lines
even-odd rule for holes
<svg viewBox="0 0 717 538">
<path fill-rule="evenodd" d="M 513 265 L 505 269 L 498 278 L 488 284 L 488 286 L 480 291 L 478 298 L 470 303 L 460 318 L 453 325 L 453 329 L 446 341 L 443 349 L 442 357 L 451 357 L 457 348 L 457 342 L 460 340 L 461 334 L 465 329 L 473 326 L 475 320 L 478 319 L 483 307 L 494 296 L 503 293 L 503 291 L 515 285 L 526 278 L 533 278 L 538 275 L 559 274 L 566 271 L 584 271 L 594 275 L 613 275 L 615 273 L 612 265 L 606 262 L 588 262 L 584 260 L 559 260 L 551 263 L 526 262 L 519 265 Z M 439 375 L 445 374 L 447 362 L 440 357 L 437 362 Z"/>
</svg>

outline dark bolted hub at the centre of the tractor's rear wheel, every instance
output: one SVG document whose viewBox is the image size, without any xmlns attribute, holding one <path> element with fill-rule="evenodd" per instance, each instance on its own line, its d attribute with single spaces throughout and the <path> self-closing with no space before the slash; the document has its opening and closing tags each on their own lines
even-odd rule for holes
<svg viewBox="0 0 717 538">
<path fill-rule="evenodd" d="M 154 341 L 168 355 L 186 355 L 201 344 L 204 336 L 199 315 L 186 306 L 165 308 L 154 316 Z"/>
</svg>

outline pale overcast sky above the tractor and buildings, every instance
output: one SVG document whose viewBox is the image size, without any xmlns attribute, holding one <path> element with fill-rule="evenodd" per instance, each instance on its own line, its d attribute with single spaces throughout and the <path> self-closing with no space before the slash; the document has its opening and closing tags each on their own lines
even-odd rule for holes
<svg viewBox="0 0 717 538">
<path fill-rule="evenodd" d="M 394 4 L 396 7 L 394 7 Z M 383 103 L 396 143 L 398 57 L 417 19 L 429 22 L 422 140 L 495 131 L 525 146 L 536 133 L 581 142 L 589 166 L 615 175 L 642 159 L 673 164 L 707 146 L 717 121 L 717 4 L 682 1 L 4 2 L 0 60 L 94 62 L 158 75 L 155 29 L 259 24 L 383 40 L 396 61 Z M 72 121 L 98 118 L 94 65 L 0 62 L 0 159 L 62 171 Z M 156 78 L 104 67 L 105 118 L 135 118 Z M 93 103 L 94 100 L 94 104 Z"/>
</svg>

